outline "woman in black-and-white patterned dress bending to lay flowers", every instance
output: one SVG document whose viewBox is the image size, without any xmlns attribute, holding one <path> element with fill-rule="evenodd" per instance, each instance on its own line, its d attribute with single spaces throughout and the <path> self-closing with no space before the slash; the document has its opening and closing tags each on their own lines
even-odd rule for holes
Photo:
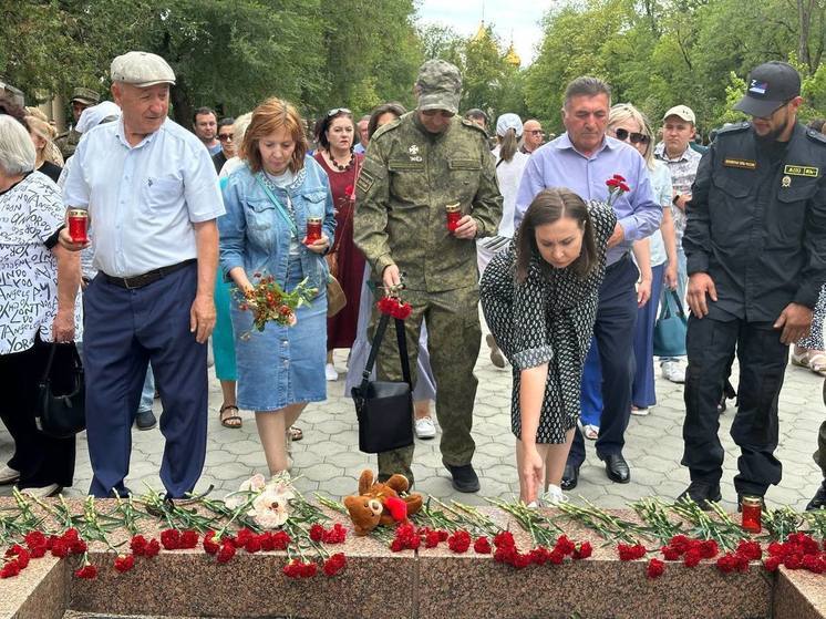
<svg viewBox="0 0 826 619">
<path fill-rule="evenodd" d="M 543 484 L 546 503 L 565 501 L 559 485 L 616 221 L 607 204 L 545 189 L 482 277 L 485 320 L 513 365 L 512 430 L 525 503 L 537 499 Z"/>
</svg>

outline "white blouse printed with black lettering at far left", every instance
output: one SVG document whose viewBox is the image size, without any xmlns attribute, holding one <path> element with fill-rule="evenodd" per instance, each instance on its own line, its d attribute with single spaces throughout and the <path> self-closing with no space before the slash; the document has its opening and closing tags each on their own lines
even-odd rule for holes
<svg viewBox="0 0 826 619">
<path fill-rule="evenodd" d="M 63 216 L 58 186 L 39 172 L 0 196 L 0 354 L 29 350 L 38 331 L 43 341 L 52 339 L 58 260 L 45 241 L 63 225 Z M 76 302 L 75 329 L 79 311 Z"/>
</svg>

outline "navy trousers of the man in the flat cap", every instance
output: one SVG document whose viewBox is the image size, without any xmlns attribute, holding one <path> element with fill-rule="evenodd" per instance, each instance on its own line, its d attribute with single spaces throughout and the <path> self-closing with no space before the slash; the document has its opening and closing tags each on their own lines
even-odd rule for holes
<svg viewBox="0 0 826 619">
<path fill-rule="evenodd" d="M 149 361 L 164 411 L 161 481 L 176 498 L 192 491 L 200 476 L 206 454 L 207 348 L 189 332 L 196 281 L 195 265 L 137 290 L 110 283 L 101 274 L 84 292 L 86 435 L 94 496 L 124 491 L 132 420 Z"/>
</svg>

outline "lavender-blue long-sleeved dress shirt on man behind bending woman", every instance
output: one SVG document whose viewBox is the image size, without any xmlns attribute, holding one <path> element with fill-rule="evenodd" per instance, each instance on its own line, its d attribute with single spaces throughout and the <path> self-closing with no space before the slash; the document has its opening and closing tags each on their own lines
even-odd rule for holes
<svg viewBox="0 0 826 619">
<path fill-rule="evenodd" d="M 568 133 L 537 148 L 528 159 L 516 196 L 515 225 L 518 228 L 534 197 L 550 187 L 567 187 L 584 200 L 608 200 L 606 180 L 622 175 L 631 190 L 612 204 L 624 240 L 606 254 L 612 265 L 629 251 L 634 240 L 650 236 L 660 227 L 662 207 L 651 190 L 646 162 L 628 144 L 606 136 L 590 156 L 571 144 Z"/>
</svg>

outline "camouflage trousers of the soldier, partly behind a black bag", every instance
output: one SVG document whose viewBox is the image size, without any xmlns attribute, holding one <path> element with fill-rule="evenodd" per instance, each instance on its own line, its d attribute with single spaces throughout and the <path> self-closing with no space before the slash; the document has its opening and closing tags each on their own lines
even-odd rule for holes
<svg viewBox="0 0 826 619">
<path fill-rule="evenodd" d="M 469 464 L 476 448 L 471 436 L 473 403 L 478 384 L 473 368 L 482 341 L 478 288 L 474 286 L 442 292 L 407 290 L 404 300 L 413 308 L 410 318 L 404 321 L 413 386 L 416 384 L 419 331 L 422 320 L 427 322 L 427 349 L 436 380 L 436 419 L 442 427 L 442 461 L 452 466 Z M 378 321 L 379 312 L 373 309 L 371 339 Z M 376 373 L 380 380 L 403 380 L 392 323 L 379 350 Z M 383 481 L 394 473 L 401 473 L 413 483 L 413 448 L 411 445 L 380 453 L 379 478 Z"/>
</svg>

